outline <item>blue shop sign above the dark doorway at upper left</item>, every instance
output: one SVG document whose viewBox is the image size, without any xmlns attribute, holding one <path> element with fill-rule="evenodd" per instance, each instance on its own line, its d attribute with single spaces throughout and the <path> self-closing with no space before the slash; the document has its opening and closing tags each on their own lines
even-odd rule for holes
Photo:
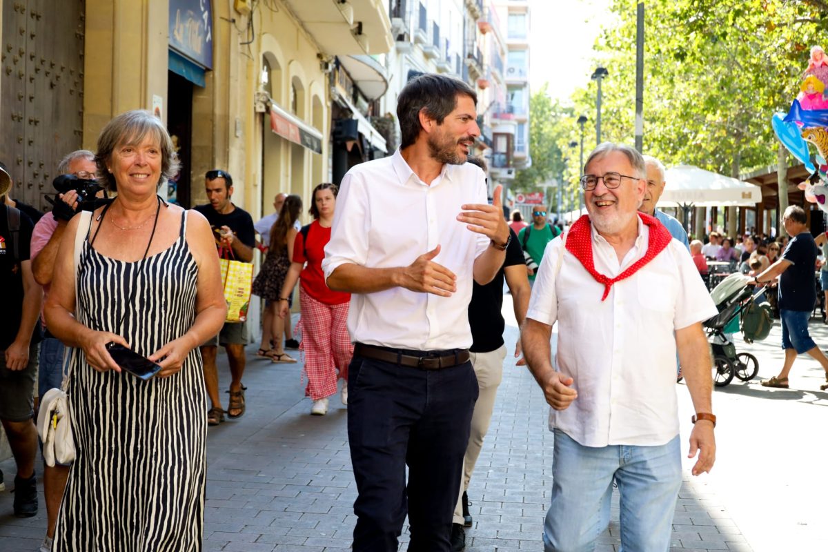
<svg viewBox="0 0 828 552">
<path fill-rule="evenodd" d="M 170 0 L 170 48 L 213 68 L 213 11 L 210 0 Z"/>
</svg>

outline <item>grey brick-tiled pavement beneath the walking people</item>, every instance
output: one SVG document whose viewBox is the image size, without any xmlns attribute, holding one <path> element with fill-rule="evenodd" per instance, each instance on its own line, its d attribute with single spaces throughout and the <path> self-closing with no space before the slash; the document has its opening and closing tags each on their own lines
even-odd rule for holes
<svg viewBox="0 0 828 552">
<path fill-rule="evenodd" d="M 509 325 L 507 332 L 507 343 L 514 343 L 517 329 Z M 248 347 L 247 414 L 209 432 L 205 550 L 347 550 L 356 489 L 346 410 L 332 397 L 328 415 L 310 416 L 310 401 L 302 398 L 301 365 L 253 358 L 256 348 Z M 226 386 L 226 358 L 219 356 L 219 362 Z M 474 527 L 467 531 L 468 552 L 542 550 L 552 437 L 546 431 L 542 393 L 513 362 L 507 360 L 492 425 L 469 487 Z M 686 391 L 682 388 L 679 394 L 686 396 Z M 689 414 L 682 410 L 684 417 Z M 689 431 L 684 424 L 681 429 L 682 435 Z M 0 468 L 7 479 L 13 473 L 11 461 Z M 752 550 L 726 508 L 708 492 L 705 478 L 691 482 L 688 469 L 685 473 L 672 550 Z M 599 552 L 619 547 L 617 498 Z M 41 513 L 28 520 L 13 517 L 11 511 L 12 495 L 0 493 L 0 550 L 37 550 L 46 523 L 42 502 Z M 400 550 L 406 550 L 407 528 L 401 541 Z"/>
</svg>

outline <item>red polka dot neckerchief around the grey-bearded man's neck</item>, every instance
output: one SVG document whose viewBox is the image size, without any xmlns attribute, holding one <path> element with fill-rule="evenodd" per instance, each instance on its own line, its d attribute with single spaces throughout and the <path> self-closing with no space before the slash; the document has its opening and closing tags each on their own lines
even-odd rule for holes
<svg viewBox="0 0 828 552">
<path fill-rule="evenodd" d="M 667 247 L 672 240 L 672 236 L 667 231 L 667 228 L 665 228 L 662 223 L 658 222 L 657 218 L 643 213 L 638 213 L 638 216 L 641 217 L 642 222 L 647 224 L 647 227 L 650 228 L 650 238 L 647 243 L 647 252 L 644 253 L 644 257 L 641 257 L 638 261 L 633 262 L 632 266 L 629 266 L 627 270 L 623 271 L 614 278 L 604 276 L 599 271 L 595 270 L 595 259 L 592 257 L 592 232 L 590 230 L 591 224 L 589 215 L 585 214 L 576 220 L 572 225 L 572 228 L 570 228 L 569 233 L 566 235 L 566 251 L 575 255 L 575 258 L 580 261 L 580 264 L 584 265 L 586 271 L 589 272 L 593 278 L 595 278 L 595 281 L 604 285 L 604 295 L 601 297 L 602 301 L 607 298 L 607 295 L 609 295 L 609 288 L 611 288 L 615 282 L 621 281 L 629 276 L 633 276 L 633 274 L 638 272 L 638 270 L 640 270 L 642 266 L 646 265 L 647 262 L 652 261 L 658 253 L 664 251 L 665 247 Z"/>
</svg>

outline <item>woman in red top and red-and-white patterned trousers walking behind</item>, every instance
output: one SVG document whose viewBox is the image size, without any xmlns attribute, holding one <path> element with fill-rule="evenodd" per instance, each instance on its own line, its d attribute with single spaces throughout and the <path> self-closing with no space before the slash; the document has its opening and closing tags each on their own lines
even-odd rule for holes
<svg viewBox="0 0 828 552">
<path fill-rule="evenodd" d="M 342 404 L 348 404 L 348 365 L 354 356 L 354 345 L 345 325 L 351 295 L 330 290 L 322 272 L 338 193 L 339 188 L 334 184 L 325 183 L 314 188 L 308 210 L 314 222 L 301 228 L 296 235 L 291 268 L 279 296 L 279 317 L 290 325 L 290 298 L 296 281 L 301 281 L 301 349 L 305 353 L 303 371 L 308 378 L 305 396 L 313 401 L 312 415 L 327 414 L 328 397 L 336 394 L 339 378 L 342 379 Z"/>
</svg>

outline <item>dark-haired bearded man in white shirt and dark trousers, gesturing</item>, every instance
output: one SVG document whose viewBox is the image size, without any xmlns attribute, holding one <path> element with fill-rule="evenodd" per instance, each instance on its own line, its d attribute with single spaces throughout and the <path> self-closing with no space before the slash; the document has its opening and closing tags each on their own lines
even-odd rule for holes
<svg viewBox="0 0 828 552">
<path fill-rule="evenodd" d="M 478 396 L 469 362 L 472 281 L 488 283 L 510 238 L 501 189 L 465 164 L 477 95 L 436 74 L 397 99 L 400 150 L 342 180 L 322 269 L 352 293 L 348 437 L 359 496 L 354 552 L 448 552 Z M 406 465 L 409 478 L 406 482 Z"/>
</svg>

